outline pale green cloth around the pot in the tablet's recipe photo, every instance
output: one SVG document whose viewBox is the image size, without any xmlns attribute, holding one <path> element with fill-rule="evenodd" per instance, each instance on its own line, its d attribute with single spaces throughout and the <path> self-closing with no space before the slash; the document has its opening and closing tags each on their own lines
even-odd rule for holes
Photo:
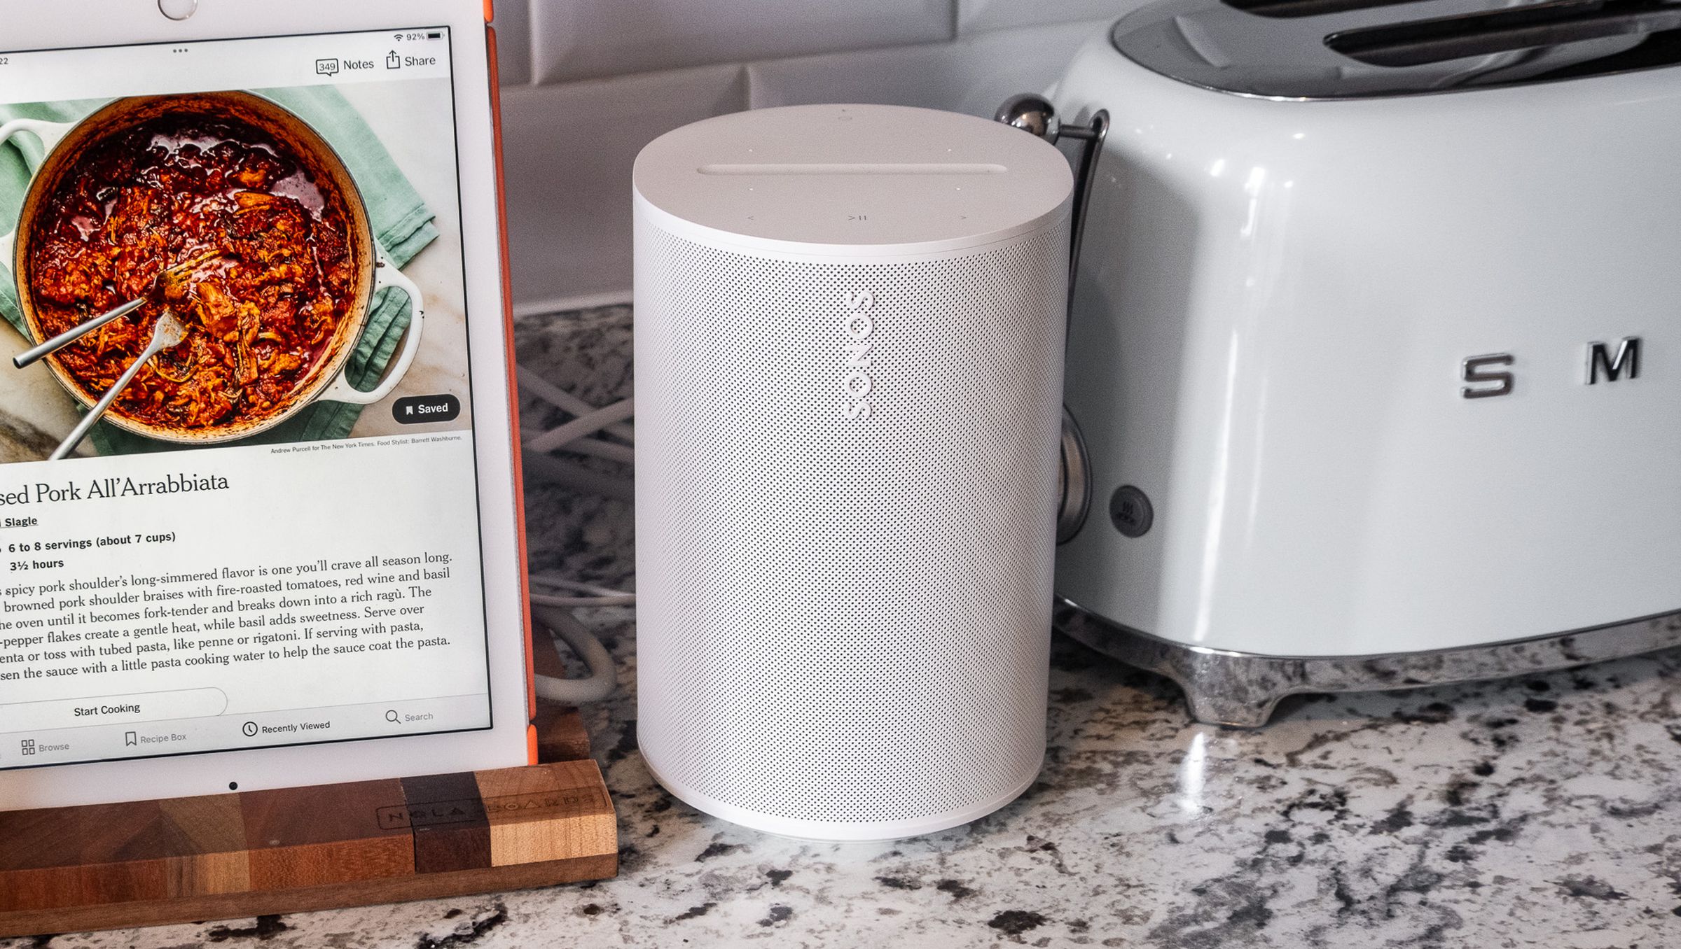
<svg viewBox="0 0 1681 949">
<path fill-rule="evenodd" d="M 368 222 L 373 225 L 373 239 L 385 249 L 387 259 L 395 267 L 403 267 L 415 254 L 437 239 L 432 225 L 432 210 L 425 207 L 420 195 L 408 183 L 408 178 L 392 161 L 385 144 L 375 138 L 373 129 L 345 101 L 345 96 L 331 86 L 306 86 L 294 89 L 256 89 L 266 99 L 272 99 L 309 123 L 333 146 L 350 176 L 355 178 L 361 200 L 368 205 Z M 55 123 L 76 123 L 108 99 L 76 102 L 40 102 L 24 106 L 0 106 L 0 123 L 15 118 L 47 119 Z M 17 223 L 17 215 L 24 207 L 24 195 L 29 191 L 29 178 L 45 160 L 40 141 L 29 133 L 13 136 L 0 143 L 0 235 Z M 10 260 L 0 262 L 0 316 L 18 333 L 25 333 L 24 314 L 17 307 L 17 284 L 10 274 Z M 402 291 L 380 291 L 368 311 L 368 322 L 361 331 L 356 349 L 346 361 L 345 376 L 360 390 L 370 390 L 385 375 L 385 368 L 397 351 L 397 343 L 414 311 Z M 8 370 L 8 368 L 7 368 Z M 287 418 L 261 435 L 244 438 L 240 445 L 313 442 L 321 438 L 343 438 L 350 435 L 360 405 L 343 401 L 316 401 L 298 415 Z M 101 455 L 126 455 L 134 452 L 160 452 L 190 445 L 171 445 L 143 438 L 124 432 L 114 425 L 99 423 L 89 433 L 94 448 Z"/>
</svg>

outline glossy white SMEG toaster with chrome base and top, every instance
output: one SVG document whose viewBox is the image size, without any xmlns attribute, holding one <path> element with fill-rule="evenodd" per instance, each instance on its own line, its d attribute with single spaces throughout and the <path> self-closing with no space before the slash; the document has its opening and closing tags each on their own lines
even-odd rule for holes
<svg viewBox="0 0 1681 949">
<path fill-rule="evenodd" d="M 1061 627 L 1246 726 L 1681 643 L 1678 62 L 1659 0 L 1167 0 L 1086 45 Z"/>
</svg>

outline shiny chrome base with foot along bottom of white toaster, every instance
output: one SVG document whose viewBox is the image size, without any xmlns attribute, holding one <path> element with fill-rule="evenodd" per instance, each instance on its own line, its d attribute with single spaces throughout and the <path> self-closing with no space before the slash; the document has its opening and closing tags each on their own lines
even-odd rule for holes
<svg viewBox="0 0 1681 949">
<path fill-rule="evenodd" d="M 1056 628 L 1128 665 L 1167 675 L 1199 722 L 1259 727 L 1284 695 L 1414 689 L 1568 668 L 1681 645 L 1681 611 L 1528 640 L 1389 655 L 1257 655 L 1168 642 L 1057 598 Z"/>
</svg>

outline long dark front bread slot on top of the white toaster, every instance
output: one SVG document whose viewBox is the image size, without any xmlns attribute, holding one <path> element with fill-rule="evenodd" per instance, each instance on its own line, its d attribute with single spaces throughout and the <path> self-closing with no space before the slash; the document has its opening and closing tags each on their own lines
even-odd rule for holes
<svg viewBox="0 0 1681 949">
<path fill-rule="evenodd" d="M 1639 44 L 1639 37 L 1644 34 L 1666 34 L 1678 29 L 1681 29 L 1681 3 L 1557 0 L 1459 17 L 1340 30 L 1325 37 L 1325 45 L 1370 66 L 1405 67 L 1612 37 L 1626 37 Z M 1663 47 L 1668 59 L 1674 44 L 1664 42 Z M 1669 60 L 1673 62 L 1673 59 Z M 1607 67 L 1609 62 L 1600 60 L 1599 69 L 1592 72 L 1614 69 Z"/>
</svg>

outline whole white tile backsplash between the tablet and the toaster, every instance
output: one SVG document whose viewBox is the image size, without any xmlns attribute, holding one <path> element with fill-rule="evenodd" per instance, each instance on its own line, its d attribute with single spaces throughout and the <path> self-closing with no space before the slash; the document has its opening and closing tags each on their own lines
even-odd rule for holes
<svg viewBox="0 0 1681 949">
<path fill-rule="evenodd" d="M 748 106 L 990 116 L 1143 0 L 498 0 L 514 306 L 629 299 L 630 163 Z"/>
</svg>

